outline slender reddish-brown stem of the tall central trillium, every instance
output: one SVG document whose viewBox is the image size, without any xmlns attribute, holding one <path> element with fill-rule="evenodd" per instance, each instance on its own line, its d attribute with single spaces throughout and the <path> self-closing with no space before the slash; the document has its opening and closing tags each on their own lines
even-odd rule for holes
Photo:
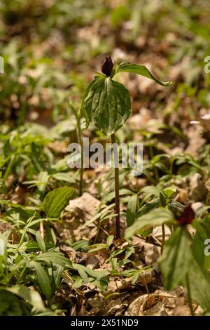
<svg viewBox="0 0 210 330">
<path fill-rule="evenodd" d="M 111 143 L 116 143 L 115 134 L 111 134 Z M 115 163 L 115 154 L 114 154 Z M 115 166 L 115 193 L 116 193 L 116 239 L 120 239 L 120 193 L 119 193 L 119 167 Z"/>
</svg>

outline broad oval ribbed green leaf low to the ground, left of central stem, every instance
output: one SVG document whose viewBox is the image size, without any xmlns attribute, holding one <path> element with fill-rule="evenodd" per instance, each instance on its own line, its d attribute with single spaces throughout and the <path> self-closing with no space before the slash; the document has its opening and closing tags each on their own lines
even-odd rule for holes
<svg viewBox="0 0 210 330">
<path fill-rule="evenodd" d="M 46 194 L 43 209 L 48 218 L 57 218 L 73 197 L 73 187 L 61 187 Z"/>
</svg>

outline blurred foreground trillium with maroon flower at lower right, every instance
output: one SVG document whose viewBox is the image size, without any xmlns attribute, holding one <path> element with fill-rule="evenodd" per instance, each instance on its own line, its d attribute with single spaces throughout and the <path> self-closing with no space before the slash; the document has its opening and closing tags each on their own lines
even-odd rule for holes
<svg viewBox="0 0 210 330">
<path fill-rule="evenodd" d="M 158 268 L 163 276 L 165 289 L 171 291 L 183 286 L 188 293 L 190 314 L 194 315 L 193 301 L 210 310 L 210 240 L 209 214 L 198 220 L 193 208 L 184 207 L 173 200 L 172 187 L 162 190 L 163 197 L 148 202 L 136 213 L 135 221 L 125 230 L 125 238 L 144 235 L 146 230 L 167 225 L 172 235 L 164 244 L 158 260 Z M 189 232 L 196 229 L 195 235 Z M 163 239 L 163 237 L 162 237 Z M 194 305 L 195 306 L 195 305 Z"/>
</svg>

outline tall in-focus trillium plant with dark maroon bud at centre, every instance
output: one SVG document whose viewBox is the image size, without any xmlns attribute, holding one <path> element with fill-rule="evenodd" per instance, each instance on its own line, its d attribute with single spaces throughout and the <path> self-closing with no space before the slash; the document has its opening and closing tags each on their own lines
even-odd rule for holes
<svg viewBox="0 0 210 330">
<path fill-rule="evenodd" d="M 87 86 L 80 111 L 87 121 L 87 126 L 90 123 L 94 124 L 106 136 L 111 136 L 112 143 L 116 143 L 115 133 L 125 124 L 131 113 L 129 91 L 123 84 L 114 80 L 116 75 L 122 72 L 140 74 L 146 78 L 153 79 L 153 81 L 162 86 L 169 86 L 171 84 L 170 82 L 162 82 L 156 79 L 144 65 L 127 64 L 125 62 L 116 65 L 116 62 L 113 63 L 110 56 L 104 58 L 102 62 L 102 73 L 96 72 L 96 76 Z M 115 196 L 116 238 L 120 238 L 118 167 L 115 167 Z"/>
</svg>

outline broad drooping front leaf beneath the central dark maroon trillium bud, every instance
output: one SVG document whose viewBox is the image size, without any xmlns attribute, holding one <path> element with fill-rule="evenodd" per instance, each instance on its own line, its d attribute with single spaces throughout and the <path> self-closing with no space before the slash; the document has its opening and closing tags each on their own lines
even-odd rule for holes
<svg viewBox="0 0 210 330">
<path fill-rule="evenodd" d="M 118 131 L 130 116 L 130 93 L 110 77 L 94 79 L 83 97 L 81 112 L 87 120 L 106 136 Z"/>
</svg>

